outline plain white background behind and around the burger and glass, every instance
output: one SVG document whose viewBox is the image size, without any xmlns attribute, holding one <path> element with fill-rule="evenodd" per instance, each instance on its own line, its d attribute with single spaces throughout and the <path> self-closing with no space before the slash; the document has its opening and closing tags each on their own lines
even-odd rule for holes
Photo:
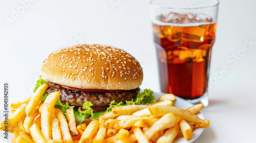
<svg viewBox="0 0 256 143">
<path fill-rule="evenodd" d="M 1 102 L 4 82 L 10 84 L 10 103 L 30 96 L 44 58 L 73 43 L 108 44 L 124 49 L 141 61 L 141 88 L 160 91 L 148 0 L 119 0 L 114 9 L 109 0 L 37 0 L 8 24 L 6 17 L 11 18 L 23 1 L 0 1 Z M 210 77 L 215 80 L 209 89 L 209 106 L 202 110 L 211 125 L 195 142 L 255 141 L 256 44 L 245 53 L 242 50 L 246 39 L 256 41 L 255 6 L 256 1 L 249 0 L 220 2 L 210 68 Z M 240 57 L 234 60 L 236 63 L 227 61 L 237 53 Z M 215 76 L 213 73 L 220 72 L 223 65 L 228 72 Z"/>
</svg>

